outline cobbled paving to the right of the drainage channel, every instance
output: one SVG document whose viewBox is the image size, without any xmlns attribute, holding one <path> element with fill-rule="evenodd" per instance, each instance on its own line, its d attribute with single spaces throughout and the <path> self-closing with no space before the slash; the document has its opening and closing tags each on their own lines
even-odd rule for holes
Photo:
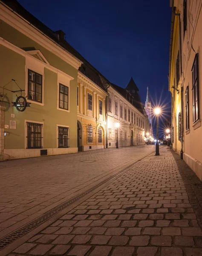
<svg viewBox="0 0 202 256">
<path fill-rule="evenodd" d="M 90 191 L 7 255 L 202 256 L 201 203 L 202 183 L 178 155 L 160 148 L 160 156 Z"/>
</svg>

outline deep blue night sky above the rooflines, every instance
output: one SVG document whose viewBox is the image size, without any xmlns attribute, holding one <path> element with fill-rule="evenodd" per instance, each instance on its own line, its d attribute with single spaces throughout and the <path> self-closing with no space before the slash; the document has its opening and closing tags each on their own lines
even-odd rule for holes
<svg viewBox="0 0 202 256">
<path fill-rule="evenodd" d="M 149 86 L 153 102 L 170 111 L 169 0 L 18 1 L 52 30 L 63 30 L 108 80 L 126 87 L 133 76 L 142 102 Z"/>
</svg>

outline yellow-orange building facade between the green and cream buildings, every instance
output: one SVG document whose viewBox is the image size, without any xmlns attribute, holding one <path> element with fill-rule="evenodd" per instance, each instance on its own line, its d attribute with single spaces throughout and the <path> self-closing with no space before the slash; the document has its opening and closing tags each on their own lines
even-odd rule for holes
<svg viewBox="0 0 202 256">
<path fill-rule="evenodd" d="M 78 150 L 105 148 L 107 92 L 80 71 L 77 92 Z"/>
</svg>

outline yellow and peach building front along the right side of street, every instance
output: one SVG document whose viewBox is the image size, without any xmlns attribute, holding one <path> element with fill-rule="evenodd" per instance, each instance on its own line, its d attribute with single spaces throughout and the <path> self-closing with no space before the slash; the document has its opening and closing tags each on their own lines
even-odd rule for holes
<svg viewBox="0 0 202 256">
<path fill-rule="evenodd" d="M 202 180 L 202 0 L 170 0 L 173 149 Z"/>
</svg>

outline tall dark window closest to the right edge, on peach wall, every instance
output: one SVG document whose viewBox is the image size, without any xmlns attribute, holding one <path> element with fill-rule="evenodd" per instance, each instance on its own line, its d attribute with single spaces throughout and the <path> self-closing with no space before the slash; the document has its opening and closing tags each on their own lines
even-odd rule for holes
<svg viewBox="0 0 202 256">
<path fill-rule="evenodd" d="M 192 100 L 193 100 L 193 122 L 199 119 L 199 55 L 193 61 L 192 67 Z"/>
</svg>

